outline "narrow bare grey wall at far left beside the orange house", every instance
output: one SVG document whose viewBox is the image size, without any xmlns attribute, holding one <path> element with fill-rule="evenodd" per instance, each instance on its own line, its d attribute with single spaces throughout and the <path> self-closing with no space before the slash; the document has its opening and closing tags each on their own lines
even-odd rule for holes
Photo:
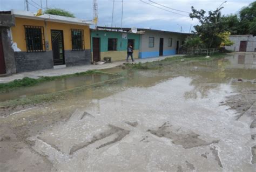
<svg viewBox="0 0 256 172">
<path fill-rule="evenodd" d="M 0 26 L 0 32 L 2 33 L 5 72 L 6 73 L 16 73 L 14 50 L 11 47 L 12 40 L 11 40 L 11 36 L 10 36 L 10 27 L 1 27 Z"/>
</svg>

